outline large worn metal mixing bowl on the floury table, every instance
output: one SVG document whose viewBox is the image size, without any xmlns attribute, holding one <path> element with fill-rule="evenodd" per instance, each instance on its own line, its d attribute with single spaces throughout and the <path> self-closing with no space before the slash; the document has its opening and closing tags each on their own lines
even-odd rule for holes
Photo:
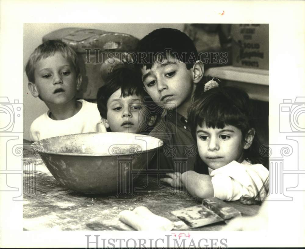
<svg viewBox="0 0 305 249">
<path fill-rule="evenodd" d="M 160 139 L 124 132 L 81 133 L 32 144 L 63 186 L 82 193 L 125 193 L 162 146 Z"/>
</svg>

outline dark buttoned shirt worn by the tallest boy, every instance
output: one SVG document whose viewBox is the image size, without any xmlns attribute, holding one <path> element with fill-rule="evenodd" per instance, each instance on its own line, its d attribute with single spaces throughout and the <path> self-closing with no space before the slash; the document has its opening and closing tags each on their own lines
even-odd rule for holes
<svg viewBox="0 0 305 249">
<path fill-rule="evenodd" d="M 163 146 L 149 164 L 149 170 L 157 173 L 183 173 L 188 170 L 208 173 L 198 155 L 187 119 L 175 110 L 167 111 L 149 135 L 163 141 Z"/>
</svg>

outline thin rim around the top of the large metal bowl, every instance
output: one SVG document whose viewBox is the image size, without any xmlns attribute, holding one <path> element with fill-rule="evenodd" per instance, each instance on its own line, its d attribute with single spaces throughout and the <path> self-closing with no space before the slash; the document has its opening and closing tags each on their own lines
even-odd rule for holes
<svg viewBox="0 0 305 249">
<path fill-rule="evenodd" d="M 43 140 L 47 140 L 47 139 L 51 139 L 51 138 L 58 138 L 58 137 L 66 137 L 66 136 L 73 136 L 73 135 L 81 135 L 81 134 L 100 134 L 100 133 L 104 133 L 104 132 L 85 132 L 85 133 L 76 133 L 76 134 L 68 134 L 68 135 L 63 135 L 63 136 L 56 136 L 56 137 L 50 137 L 50 138 L 45 138 L 45 139 L 41 139 L 41 140 L 38 140 L 34 143 L 31 144 L 31 147 L 33 149 L 33 153 L 34 155 L 38 155 L 38 156 L 43 156 L 44 154 L 51 154 L 51 155 L 62 155 L 62 156 L 78 156 L 78 157 L 105 157 L 105 156 L 110 156 L 110 157 L 117 157 L 117 156 L 126 156 L 126 155 L 131 155 L 130 153 L 120 153 L 119 155 L 115 154 L 115 155 L 111 155 L 111 154 L 106 154 L 106 153 L 99 153 L 99 154 L 87 154 L 87 153 L 67 153 L 67 152 L 52 152 L 52 151 L 45 151 L 45 149 L 43 148 L 43 145 L 41 143 L 41 141 Z M 110 133 L 110 132 L 109 132 Z M 113 133 L 127 133 L 127 132 L 113 132 Z M 130 134 L 130 133 L 129 133 Z M 136 134 L 136 133 L 132 133 L 132 134 Z M 158 143 L 162 143 L 160 146 L 156 147 L 156 148 L 152 148 L 152 149 L 149 149 L 149 150 L 144 150 L 144 151 L 141 151 L 139 154 L 142 154 L 144 152 L 150 152 L 150 151 L 153 151 L 153 150 L 157 150 L 158 148 L 161 148 L 164 143 L 161 139 L 158 139 L 156 137 L 153 137 L 153 136 L 149 136 L 149 135 L 144 135 L 144 134 L 138 134 L 139 136 L 146 136 L 146 137 L 152 137 L 154 139 L 157 139 L 159 141 L 156 141 Z M 42 147 L 42 149 L 41 149 Z M 36 153 L 35 153 L 35 148 L 36 149 Z"/>
</svg>

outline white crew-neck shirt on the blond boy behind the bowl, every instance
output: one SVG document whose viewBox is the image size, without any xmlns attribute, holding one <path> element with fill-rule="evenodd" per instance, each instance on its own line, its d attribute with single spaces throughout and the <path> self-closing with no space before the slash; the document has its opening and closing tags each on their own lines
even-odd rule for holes
<svg viewBox="0 0 305 249">
<path fill-rule="evenodd" d="M 31 141 L 77 133 L 106 132 L 97 104 L 84 99 L 77 101 L 82 104 L 81 110 L 70 118 L 53 120 L 48 115 L 49 111 L 36 118 L 30 127 Z"/>
</svg>

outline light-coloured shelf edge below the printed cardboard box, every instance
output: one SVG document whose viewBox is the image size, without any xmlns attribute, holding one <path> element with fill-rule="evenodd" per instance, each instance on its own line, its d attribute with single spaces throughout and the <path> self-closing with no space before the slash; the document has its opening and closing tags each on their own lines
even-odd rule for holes
<svg viewBox="0 0 305 249">
<path fill-rule="evenodd" d="M 211 67 L 204 72 L 204 75 L 230 81 L 269 85 L 269 70 L 264 69 L 233 66 Z"/>
</svg>

